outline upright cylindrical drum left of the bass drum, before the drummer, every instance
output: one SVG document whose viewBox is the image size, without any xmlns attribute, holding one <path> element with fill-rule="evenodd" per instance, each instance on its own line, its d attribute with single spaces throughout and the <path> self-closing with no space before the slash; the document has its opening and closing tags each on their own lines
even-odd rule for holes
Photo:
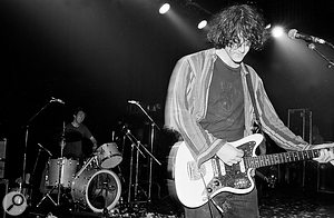
<svg viewBox="0 0 334 218">
<path fill-rule="evenodd" d="M 78 161 L 67 158 L 58 158 L 49 160 L 48 170 L 48 185 L 58 186 L 59 172 L 60 172 L 60 185 L 68 188 L 75 178 Z"/>
</svg>

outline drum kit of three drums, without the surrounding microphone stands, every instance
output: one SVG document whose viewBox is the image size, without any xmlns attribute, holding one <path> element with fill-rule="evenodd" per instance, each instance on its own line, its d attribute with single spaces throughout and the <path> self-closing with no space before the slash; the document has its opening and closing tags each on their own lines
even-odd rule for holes
<svg viewBox="0 0 334 218">
<path fill-rule="evenodd" d="M 60 196 L 68 195 L 73 209 L 90 209 L 94 212 L 108 214 L 119 201 L 121 182 L 111 169 L 122 161 L 116 142 L 104 143 L 79 168 L 79 161 L 60 157 L 49 159 L 46 174 L 46 186 L 51 189 L 37 204 L 50 199 L 59 206 Z M 58 189 L 57 201 L 51 198 Z"/>
</svg>

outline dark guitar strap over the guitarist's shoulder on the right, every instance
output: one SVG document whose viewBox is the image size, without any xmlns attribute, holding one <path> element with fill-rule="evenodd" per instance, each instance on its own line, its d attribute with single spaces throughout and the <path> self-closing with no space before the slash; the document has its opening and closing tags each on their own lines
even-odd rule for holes
<svg viewBox="0 0 334 218">
<path fill-rule="evenodd" d="M 262 125 L 261 125 L 261 120 L 259 120 L 259 115 L 258 115 L 258 110 L 257 110 L 257 106 L 256 106 L 256 101 L 255 101 L 255 95 L 254 95 L 254 89 L 253 89 L 253 83 L 252 83 L 252 78 L 250 78 L 250 73 L 247 69 L 246 66 L 244 66 L 244 69 L 246 71 L 246 82 L 247 82 L 247 88 L 249 91 L 249 96 L 250 96 L 250 101 L 254 108 L 254 113 L 255 113 L 255 126 L 254 126 L 254 133 L 262 133 L 264 137 L 263 142 L 259 145 L 259 147 L 264 147 L 265 148 L 265 135 L 262 130 Z M 264 153 L 262 153 L 264 155 Z"/>
</svg>

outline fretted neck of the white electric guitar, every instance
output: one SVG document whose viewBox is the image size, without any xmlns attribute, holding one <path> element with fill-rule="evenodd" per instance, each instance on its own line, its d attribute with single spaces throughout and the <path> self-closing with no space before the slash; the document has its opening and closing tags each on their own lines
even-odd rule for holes
<svg viewBox="0 0 334 218">
<path fill-rule="evenodd" d="M 282 152 L 274 155 L 263 155 L 257 157 L 244 158 L 247 168 L 258 168 L 284 162 L 295 162 L 301 160 L 310 160 L 320 156 L 321 149 Z"/>
</svg>

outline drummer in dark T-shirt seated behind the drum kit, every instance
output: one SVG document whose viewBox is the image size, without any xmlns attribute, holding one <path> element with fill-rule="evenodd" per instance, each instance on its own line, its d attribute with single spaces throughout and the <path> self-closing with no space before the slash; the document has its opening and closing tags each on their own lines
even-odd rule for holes
<svg viewBox="0 0 334 218">
<path fill-rule="evenodd" d="M 82 164 L 82 139 L 90 139 L 92 142 L 92 151 L 97 149 L 97 140 L 90 130 L 82 123 L 86 118 L 86 111 L 77 108 L 73 111 L 73 120 L 65 127 L 65 147 L 62 156 L 66 158 L 77 159 Z"/>
</svg>

